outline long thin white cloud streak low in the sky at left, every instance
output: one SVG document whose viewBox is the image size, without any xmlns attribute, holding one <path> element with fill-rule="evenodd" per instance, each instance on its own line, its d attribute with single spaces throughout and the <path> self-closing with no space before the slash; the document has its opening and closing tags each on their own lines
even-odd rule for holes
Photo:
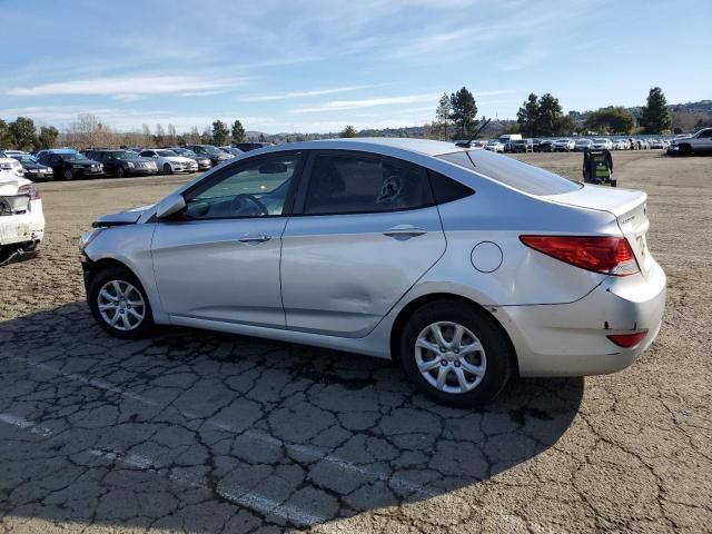
<svg viewBox="0 0 712 534">
<path fill-rule="evenodd" d="M 245 85 L 245 79 L 201 79 L 187 76 L 126 76 L 60 81 L 33 87 L 16 87 L 7 91 L 13 97 L 59 95 L 100 95 L 126 99 L 141 95 L 170 95 L 196 91 L 229 90 Z M 135 99 L 135 98 L 134 98 Z"/>
</svg>

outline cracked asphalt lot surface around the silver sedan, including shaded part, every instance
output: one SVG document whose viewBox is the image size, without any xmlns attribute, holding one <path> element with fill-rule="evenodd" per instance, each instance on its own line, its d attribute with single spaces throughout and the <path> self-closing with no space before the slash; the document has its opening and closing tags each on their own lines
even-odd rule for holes
<svg viewBox="0 0 712 534">
<path fill-rule="evenodd" d="M 613 157 L 650 195 L 660 337 L 622 373 L 517 380 L 476 412 L 377 359 L 108 337 L 77 238 L 187 178 L 41 185 L 41 255 L 0 268 L 0 533 L 710 532 L 712 158 Z M 581 155 L 520 158 L 581 172 Z"/>
</svg>

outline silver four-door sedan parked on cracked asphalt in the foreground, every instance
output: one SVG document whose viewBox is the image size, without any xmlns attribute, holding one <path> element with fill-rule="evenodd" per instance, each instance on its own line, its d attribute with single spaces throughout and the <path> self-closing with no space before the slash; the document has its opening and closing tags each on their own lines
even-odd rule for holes
<svg viewBox="0 0 712 534">
<path fill-rule="evenodd" d="M 250 151 L 100 218 L 80 249 L 117 337 L 165 324 L 394 358 L 472 406 L 513 375 L 640 356 L 665 303 L 647 228 L 641 191 L 448 142 L 327 140 Z"/>
</svg>

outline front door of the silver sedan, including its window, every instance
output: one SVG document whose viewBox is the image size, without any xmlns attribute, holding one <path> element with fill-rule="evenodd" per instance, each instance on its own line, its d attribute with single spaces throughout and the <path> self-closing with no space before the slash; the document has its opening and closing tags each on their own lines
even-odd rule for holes
<svg viewBox="0 0 712 534">
<path fill-rule="evenodd" d="M 285 327 L 279 258 L 299 162 L 296 152 L 236 161 L 157 225 L 151 254 L 167 314 Z"/>
</svg>

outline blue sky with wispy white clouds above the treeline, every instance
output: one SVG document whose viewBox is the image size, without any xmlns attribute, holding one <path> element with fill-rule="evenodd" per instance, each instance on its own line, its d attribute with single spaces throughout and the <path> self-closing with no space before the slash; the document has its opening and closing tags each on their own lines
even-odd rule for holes
<svg viewBox="0 0 712 534">
<path fill-rule="evenodd" d="M 709 0 L 0 0 L 0 118 L 60 128 L 415 126 L 463 86 L 500 118 L 530 92 L 712 98 Z"/>
</svg>

